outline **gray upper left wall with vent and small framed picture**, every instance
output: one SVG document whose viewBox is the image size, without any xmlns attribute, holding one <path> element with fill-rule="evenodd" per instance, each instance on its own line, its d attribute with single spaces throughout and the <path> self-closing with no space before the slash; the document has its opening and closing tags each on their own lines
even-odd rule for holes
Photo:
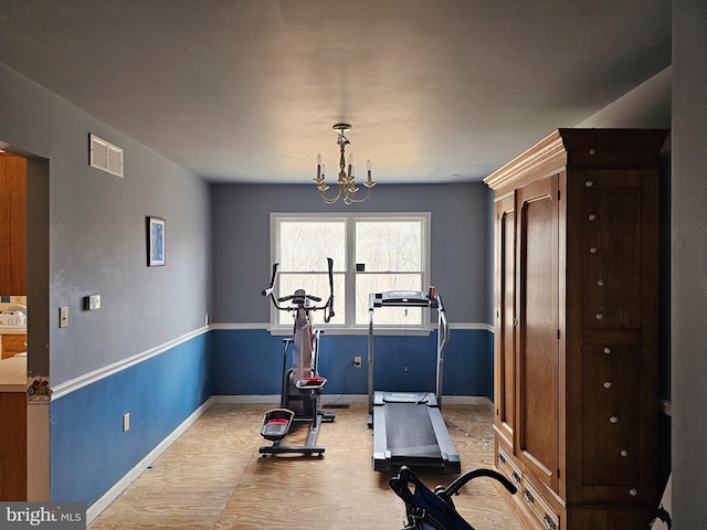
<svg viewBox="0 0 707 530">
<path fill-rule="evenodd" d="M 125 178 L 88 166 L 89 132 L 125 150 Z M 49 182 L 49 235 L 28 242 L 29 259 L 49 263 L 32 279 L 43 285 L 30 286 L 40 295 L 28 296 L 31 370 L 56 386 L 203 327 L 212 290 L 207 182 L 3 65 L 0 141 L 49 161 L 31 165 Z M 32 174 L 28 202 L 46 201 L 33 191 L 41 178 Z M 165 267 L 147 267 L 147 215 L 167 220 Z M 93 294 L 102 307 L 86 311 Z M 35 335 L 48 336 L 49 352 L 33 348 Z"/>
</svg>

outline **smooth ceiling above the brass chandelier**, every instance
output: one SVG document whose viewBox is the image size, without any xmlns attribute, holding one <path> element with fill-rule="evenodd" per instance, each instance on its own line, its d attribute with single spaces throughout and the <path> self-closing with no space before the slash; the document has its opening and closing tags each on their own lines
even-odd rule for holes
<svg viewBox="0 0 707 530">
<path fill-rule="evenodd" d="M 0 62 L 212 182 L 334 174 L 339 121 L 359 176 L 474 181 L 666 68 L 671 2 L 0 0 Z"/>
</svg>

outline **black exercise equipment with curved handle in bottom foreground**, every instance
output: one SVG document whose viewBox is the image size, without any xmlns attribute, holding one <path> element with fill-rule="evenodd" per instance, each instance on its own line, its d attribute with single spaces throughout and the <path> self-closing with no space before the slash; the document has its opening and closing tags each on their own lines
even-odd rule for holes
<svg viewBox="0 0 707 530">
<path fill-rule="evenodd" d="M 389 484 L 405 504 L 408 523 L 403 530 L 474 530 L 456 511 L 452 497 L 458 495 L 466 483 L 477 477 L 498 480 L 510 495 L 517 491 L 510 480 L 493 469 L 467 471 L 446 488 L 437 486 L 432 491 L 409 467 L 402 466 L 398 476 L 391 478 Z M 411 485 L 414 486 L 412 490 Z"/>
</svg>

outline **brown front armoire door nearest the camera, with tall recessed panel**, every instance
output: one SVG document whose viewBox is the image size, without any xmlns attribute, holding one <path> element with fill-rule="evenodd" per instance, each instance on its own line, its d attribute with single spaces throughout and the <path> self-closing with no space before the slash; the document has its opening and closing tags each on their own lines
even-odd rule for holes
<svg viewBox="0 0 707 530">
<path fill-rule="evenodd" d="M 517 191 L 516 455 L 557 490 L 559 469 L 558 179 Z"/>
</svg>

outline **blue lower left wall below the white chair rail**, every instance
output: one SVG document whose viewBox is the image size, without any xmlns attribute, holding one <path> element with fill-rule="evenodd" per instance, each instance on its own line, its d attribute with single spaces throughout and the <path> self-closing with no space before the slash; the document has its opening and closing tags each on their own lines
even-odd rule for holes
<svg viewBox="0 0 707 530">
<path fill-rule="evenodd" d="M 208 333 L 50 404 L 51 497 L 91 505 L 211 396 Z M 130 428 L 123 432 L 123 415 Z"/>
</svg>

